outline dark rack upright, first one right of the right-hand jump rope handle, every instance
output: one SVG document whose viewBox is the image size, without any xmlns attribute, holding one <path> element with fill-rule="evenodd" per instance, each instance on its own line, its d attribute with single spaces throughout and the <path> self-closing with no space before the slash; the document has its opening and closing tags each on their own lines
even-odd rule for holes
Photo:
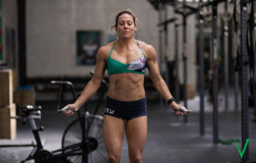
<svg viewBox="0 0 256 163">
<path fill-rule="evenodd" d="M 199 56 L 200 56 L 200 135 L 205 134 L 205 61 L 204 61 L 204 16 L 201 7 L 202 0 L 199 2 Z"/>
</svg>

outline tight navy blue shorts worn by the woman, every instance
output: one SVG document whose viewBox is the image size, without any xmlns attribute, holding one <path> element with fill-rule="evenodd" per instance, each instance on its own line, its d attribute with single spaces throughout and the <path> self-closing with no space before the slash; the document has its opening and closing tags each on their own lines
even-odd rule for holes
<svg viewBox="0 0 256 163">
<path fill-rule="evenodd" d="M 107 97 L 104 115 L 111 115 L 124 121 L 147 115 L 147 99 L 125 102 Z"/>
</svg>

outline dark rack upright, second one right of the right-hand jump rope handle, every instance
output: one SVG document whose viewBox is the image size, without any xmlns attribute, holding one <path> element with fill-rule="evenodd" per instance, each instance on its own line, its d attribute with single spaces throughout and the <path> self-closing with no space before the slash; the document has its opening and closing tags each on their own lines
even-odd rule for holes
<svg viewBox="0 0 256 163">
<path fill-rule="evenodd" d="M 213 111 L 212 111 L 212 128 L 213 128 L 213 143 L 218 143 L 218 33 L 217 33 L 217 18 L 218 18 L 218 2 L 212 3 L 212 69 L 213 69 Z"/>
</svg>

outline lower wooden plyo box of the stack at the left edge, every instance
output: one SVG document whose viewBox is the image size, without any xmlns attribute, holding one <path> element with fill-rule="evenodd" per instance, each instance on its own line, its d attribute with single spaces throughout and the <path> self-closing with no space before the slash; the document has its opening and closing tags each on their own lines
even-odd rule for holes
<svg viewBox="0 0 256 163">
<path fill-rule="evenodd" d="M 10 119 L 16 115 L 16 105 L 10 104 L 0 107 L 0 138 L 15 139 L 16 138 L 16 120 Z"/>
</svg>

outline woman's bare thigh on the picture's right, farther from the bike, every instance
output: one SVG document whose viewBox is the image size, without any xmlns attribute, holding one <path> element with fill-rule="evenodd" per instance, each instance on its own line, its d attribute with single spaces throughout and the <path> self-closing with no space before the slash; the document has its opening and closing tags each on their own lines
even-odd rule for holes
<svg viewBox="0 0 256 163">
<path fill-rule="evenodd" d="M 148 132 L 147 121 L 147 116 L 140 116 L 126 122 L 126 138 L 130 157 L 143 153 Z"/>
</svg>

